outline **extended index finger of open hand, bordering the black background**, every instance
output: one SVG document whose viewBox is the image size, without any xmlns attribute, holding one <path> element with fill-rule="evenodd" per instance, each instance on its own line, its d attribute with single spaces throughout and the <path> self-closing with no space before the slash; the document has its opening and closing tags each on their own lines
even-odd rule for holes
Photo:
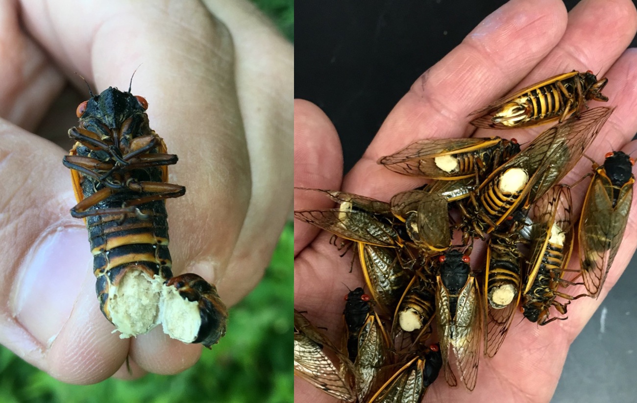
<svg viewBox="0 0 637 403">
<path fill-rule="evenodd" d="M 485 18 L 397 103 L 343 189 L 389 200 L 417 184 L 376 160 L 415 140 L 467 136 L 469 112 L 519 82 L 557 44 L 565 11 L 561 1 L 513 0 Z"/>
</svg>

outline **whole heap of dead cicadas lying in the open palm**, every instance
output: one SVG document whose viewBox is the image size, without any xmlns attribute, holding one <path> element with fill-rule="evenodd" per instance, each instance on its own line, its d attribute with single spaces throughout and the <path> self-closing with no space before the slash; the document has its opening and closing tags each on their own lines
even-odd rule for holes
<svg viewBox="0 0 637 403">
<path fill-rule="evenodd" d="M 566 319 L 573 300 L 598 297 L 626 229 L 633 159 L 619 151 L 593 163 L 579 216 L 560 181 L 613 111 L 586 105 L 608 101 L 607 81 L 572 71 L 473 112 L 479 128 L 557 123 L 524 150 L 499 137 L 421 140 L 381 158 L 389 170 L 433 179 L 389 203 L 297 189 L 338 203 L 295 216 L 355 248 L 368 292 L 346 298 L 342 346 L 295 311 L 295 374 L 348 402 L 420 402 L 440 369 L 449 385 L 455 372 L 473 390 L 481 348 L 496 355 L 517 309 L 546 325 Z M 477 238 L 486 261 L 471 268 Z M 576 285 L 585 292 L 572 295 Z"/>
</svg>

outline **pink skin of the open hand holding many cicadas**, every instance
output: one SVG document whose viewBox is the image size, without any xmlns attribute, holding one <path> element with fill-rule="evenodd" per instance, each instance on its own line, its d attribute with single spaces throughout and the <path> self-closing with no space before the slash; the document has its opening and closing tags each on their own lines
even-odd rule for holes
<svg viewBox="0 0 637 403">
<path fill-rule="evenodd" d="M 637 52 L 627 49 L 637 30 L 637 12 L 629 0 L 584 0 L 570 13 L 559 0 L 513 0 L 476 27 L 450 54 L 427 70 L 397 103 L 369 145 L 363 158 L 343 177 L 342 154 L 336 131 L 317 106 L 297 100 L 295 119 L 295 186 L 341 189 L 389 200 L 399 191 L 422 184 L 376 164 L 409 143 L 424 138 L 462 136 L 515 137 L 529 142 L 548 127 L 514 131 L 487 131 L 469 126 L 469 112 L 482 108 L 513 89 L 571 70 L 592 70 L 608 77 L 603 93 L 610 101 L 590 106 L 615 106 L 615 112 L 587 151 L 603 162 L 610 150 L 630 154 L 637 131 Z M 541 34 L 538 34 L 541 33 Z M 417 44 L 414 50 L 418 50 Z M 485 84 L 486 83 L 486 84 Z M 594 105 L 593 105 L 594 104 Z M 524 146 L 523 146 L 524 147 Z M 591 172 L 583 159 L 563 180 L 573 183 Z M 586 186 L 573 189 L 576 212 Z M 331 202 L 320 195 L 297 191 L 295 209 L 321 209 Z M 633 204 L 637 203 L 636 200 Z M 427 402 L 548 402 L 562 371 L 568 347 L 617 282 L 637 244 L 637 214 L 633 205 L 624 242 L 597 300 L 580 298 L 568 307 L 568 320 L 538 326 L 516 312 L 501 349 L 492 358 L 481 358 L 475 390 L 450 388 L 441 376 L 427 392 Z M 349 273 L 350 259 L 340 258 L 329 244 L 330 234 L 309 224 L 295 223 L 295 305 L 307 311 L 317 326 L 340 340 L 343 327 L 343 295 L 347 288 L 363 284 L 359 270 Z M 475 270 L 481 254 L 471 255 Z M 576 251 L 570 268 L 579 266 Z M 581 286 L 568 289 L 577 295 Z M 553 312 L 555 314 L 555 312 Z M 593 346 L 591 346 L 593 348 Z M 295 379 L 295 400 L 333 402 L 334 399 Z"/>
</svg>

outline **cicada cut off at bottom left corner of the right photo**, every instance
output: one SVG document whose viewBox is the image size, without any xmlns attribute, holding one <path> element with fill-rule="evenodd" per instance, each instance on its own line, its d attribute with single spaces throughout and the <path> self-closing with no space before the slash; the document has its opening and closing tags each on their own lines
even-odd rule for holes
<svg viewBox="0 0 637 403">
<path fill-rule="evenodd" d="M 324 349 L 330 349 L 350 370 L 354 366 L 347 356 L 327 339 L 317 328 L 311 325 L 300 312 L 294 310 L 294 375 L 305 379 L 311 385 L 336 397 L 336 399 L 354 402 L 356 396 L 352 388 L 341 376 L 334 363 L 327 357 Z"/>
</svg>

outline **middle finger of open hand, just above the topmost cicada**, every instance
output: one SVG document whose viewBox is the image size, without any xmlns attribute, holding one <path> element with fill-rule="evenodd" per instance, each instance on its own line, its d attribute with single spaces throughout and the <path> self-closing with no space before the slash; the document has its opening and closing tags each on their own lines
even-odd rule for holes
<svg viewBox="0 0 637 403">
<path fill-rule="evenodd" d="M 599 27 L 604 27 L 602 31 Z M 531 71 L 517 88 L 572 70 L 592 70 L 604 77 L 606 71 L 630 45 L 637 32 L 637 11 L 632 1 L 584 0 L 568 14 L 568 27 L 557 46 Z M 609 78 L 608 91 L 613 89 Z M 617 87 L 615 87 L 615 90 Z M 605 89 L 606 94 L 606 89 Z M 497 97 L 496 97 L 497 98 Z M 609 96 L 612 105 L 618 105 Z M 595 104 L 595 105 L 592 105 Z M 591 103 L 591 106 L 603 104 Z M 609 119 L 613 119 L 612 115 Z M 520 143 L 529 142 L 544 126 L 507 131 Z M 493 130 L 479 129 L 475 136 L 492 136 Z M 595 144 L 595 143 L 594 143 Z"/>
</svg>

